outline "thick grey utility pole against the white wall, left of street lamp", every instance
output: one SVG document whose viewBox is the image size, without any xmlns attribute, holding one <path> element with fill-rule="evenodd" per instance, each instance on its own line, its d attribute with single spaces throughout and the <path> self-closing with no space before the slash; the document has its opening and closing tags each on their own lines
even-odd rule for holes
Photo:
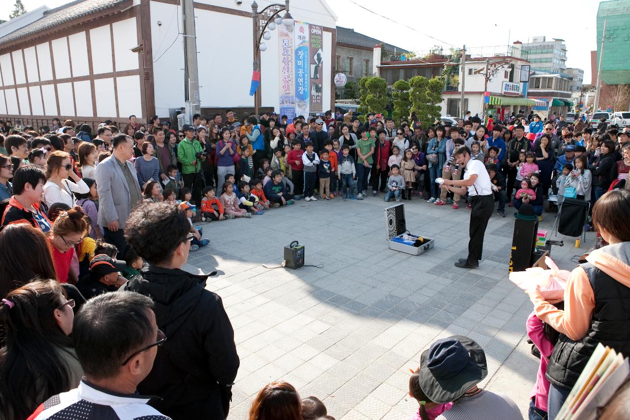
<svg viewBox="0 0 630 420">
<path fill-rule="evenodd" d="M 195 31 L 195 8 L 193 0 L 181 0 L 181 20 L 184 38 L 184 74 L 186 80 L 186 120 L 192 124 L 193 115 L 201 111 L 199 100 L 199 72 L 197 68 L 197 35 Z"/>
</svg>

